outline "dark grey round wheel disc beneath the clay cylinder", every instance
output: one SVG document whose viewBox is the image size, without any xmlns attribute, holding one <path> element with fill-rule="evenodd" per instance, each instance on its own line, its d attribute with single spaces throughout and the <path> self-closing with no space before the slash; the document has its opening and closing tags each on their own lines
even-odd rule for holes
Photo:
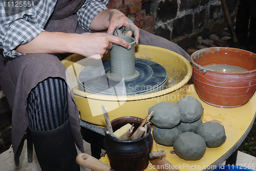
<svg viewBox="0 0 256 171">
<path fill-rule="evenodd" d="M 167 72 L 154 61 L 135 58 L 135 70 L 139 75 L 131 80 L 108 78 L 106 73 L 110 71 L 110 60 L 103 60 L 103 67 L 100 62 L 81 70 L 78 75 L 79 90 L 93 94 L 130 96 L 167 88 Z"/>
</svg>

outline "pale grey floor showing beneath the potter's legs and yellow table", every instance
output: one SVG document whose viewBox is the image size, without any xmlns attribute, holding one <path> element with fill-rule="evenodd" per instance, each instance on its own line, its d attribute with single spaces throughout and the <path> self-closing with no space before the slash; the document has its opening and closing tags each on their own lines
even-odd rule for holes
<svg viewBox="0 0 256 171">
<path fill-rule="evenodd" d="M 86 149 L 87 154 L 91 154 L 90 144 L 84 141 L 84 149 Z M 78 151 L 78 153 L 80 153 Z M 36 155 L 33 154 L 33 162 L 27 162 L 27 141 L 25 141 L 22 155 L 20 156 L 20 164 L 18 167 L 15 166 L 13 161 L 12 148 L 8 149 L 6 152 L 0 154 L 0 170 L 4 171 L 40 171 Z M 250 156 L 248 154 L 238 152 L 237 165 L 239 166 L 254 166 L 253 170 L 256 171 L 256 157 Z M 90 169 L 81 167 L 81 171 L 89 171 Z"/>
</svg>

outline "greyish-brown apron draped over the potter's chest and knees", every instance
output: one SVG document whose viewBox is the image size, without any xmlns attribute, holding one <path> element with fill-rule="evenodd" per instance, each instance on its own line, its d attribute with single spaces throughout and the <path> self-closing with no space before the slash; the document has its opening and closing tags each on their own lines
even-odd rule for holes
<svg viewBox="0 0 256 171">
<path fill-rule="evenodd" d="M 45 30 L 75 33 L 76 11 L 85 0 L 58 0 Z M 68 11 L 68 13 L 67 13 Z M 26 113 L 27 97 L 38 82 L 48 77 L 59 77 L 66 81 L 66 68 L 53 54 L 27 54 L 8 60 L 0 54 L 0 84 L 12 109 L 12 147 L 16 166 L 24 145 L 24 134 L 28 127 Z M 71 131 L 76 145 L 84 152 L 79 126 L 77 105 L 68 93 L 68 108 Z"/>
</svg>

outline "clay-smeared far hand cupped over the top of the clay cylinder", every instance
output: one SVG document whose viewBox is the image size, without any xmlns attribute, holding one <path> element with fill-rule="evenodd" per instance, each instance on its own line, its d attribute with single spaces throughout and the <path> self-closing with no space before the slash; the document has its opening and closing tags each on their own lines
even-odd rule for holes
<svg viewBox="0 0 256 171">
<path fill-rule="evenodd" d="M 119 10 L 111 10 L 110 12 L 110 22 L 107 33 L 114 34 L 117 30 L 121 30 L 117 32 L 117 35 L 124 34 L 127 36 L 132 36 L 134 34 L 136 44 L 139 42 L 139 28 L 132 22 L 131 19 L 127 18 L 122 12 Z"/>
</svg>

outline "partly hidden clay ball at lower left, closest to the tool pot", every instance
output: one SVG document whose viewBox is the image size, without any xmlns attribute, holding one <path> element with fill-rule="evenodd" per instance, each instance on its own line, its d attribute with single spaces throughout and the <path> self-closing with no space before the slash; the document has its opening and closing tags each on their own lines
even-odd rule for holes
<svg viewBox="0 0 256 171">
<path fill-rule="evenodd" d="M 173 146 L 177 136 L 181 133 L 179 126 L 173 127 L 172 129 L 160 129 L 159 127 L 154 126 L 152 135 L 156 143 Z"/>
</svg>

